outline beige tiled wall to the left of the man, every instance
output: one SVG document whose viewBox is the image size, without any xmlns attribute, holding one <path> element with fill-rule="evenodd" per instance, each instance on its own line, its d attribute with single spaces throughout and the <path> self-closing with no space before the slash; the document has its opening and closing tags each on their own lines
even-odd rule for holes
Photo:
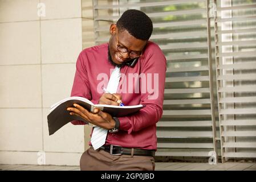
<svg viewBox="0 0 256 182">
<path fill-rule="evenodd" d="M 79 165 L 90 128 L 48 136 L 47 114 L 70 96 L 79 52 L 93 45 L 92 1 L 0 0 L 1 164 L 38 164 L 44 151 L 46 164 Z"/>
</svg>

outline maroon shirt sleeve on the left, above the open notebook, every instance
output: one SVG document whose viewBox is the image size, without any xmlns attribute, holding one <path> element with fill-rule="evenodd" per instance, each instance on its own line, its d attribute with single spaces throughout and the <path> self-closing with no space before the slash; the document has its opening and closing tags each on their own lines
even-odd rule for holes
<svg viewBox="0 0 256 182">
<path fill-rule="evenodd" d="M 91 90 L 88 82 L 86 61 L 86 54 L 81 52 L 78 56 L 78 60 L 76 61 L 76 72 L 71 90 L 71 97 L 79 96 L 91 100 Z M 73 125 L 86 125 L 85 122 L 79 120 L 71 121 L 71 123 Z"/>
</svg>

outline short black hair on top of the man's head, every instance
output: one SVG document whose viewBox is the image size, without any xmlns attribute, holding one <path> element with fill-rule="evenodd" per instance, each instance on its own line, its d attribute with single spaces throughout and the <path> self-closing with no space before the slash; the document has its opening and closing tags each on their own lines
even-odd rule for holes
<svg viewBox="0 0 256 182">
<path fill-rule="evenodd" d="M 141 40 L 148 40 L 153 31 L 151 19 L 139 10 L 125 11 L 116 24 L 118 30 L 127 30 L 129 34 Z"/>
</svg>

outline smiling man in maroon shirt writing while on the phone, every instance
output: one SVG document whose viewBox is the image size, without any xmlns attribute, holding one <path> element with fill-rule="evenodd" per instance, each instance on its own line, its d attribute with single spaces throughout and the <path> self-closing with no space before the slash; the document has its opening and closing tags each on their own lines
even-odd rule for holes
<svg viewBox="0 0 256 182">
<path fill-rule="evenodd" d="M 125 106 L 145 105 L 140 111 L 119 118 L 100 109 L 90 113 L 77 104 L 67 108 L 71 115 L 99 126 L 92 135 L 96 128 L 108 131 L 103 146 L 95 147 L 91 139 L 94 147 L 83 153 L 81 170 L 155 170 L 156 122 L 162 116 L 166 59 L 159 46 L 148 41 L 152 30 L 152 21 L 146 14 L 127 10 L 116 24 L 111 24 L 108 43 L 80 53 L 71 96 L 85 97 L 94 104 L 119 105 L 121 101 Z M 113 72 L 119 72 L 119 77 Z M 103 92 L 104 75 L 110 77 L 105 83 L 107 90 L 118 85 L 116 92 Z M 82 121 L 72 123 L 84 125 Z"/>
</svg>

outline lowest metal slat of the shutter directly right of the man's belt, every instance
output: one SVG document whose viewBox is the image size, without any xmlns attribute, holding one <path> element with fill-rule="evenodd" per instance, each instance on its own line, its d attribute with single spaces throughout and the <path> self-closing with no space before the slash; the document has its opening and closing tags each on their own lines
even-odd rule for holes
<svg viewBox="0 0 256 182">
<path fill-rule="evenodd" d="M 162 152 L 162 151 L 156 151 L 156 156 L 205 156 L 209 157 L 209 151 L 208 152 Z"/>
</svg>

